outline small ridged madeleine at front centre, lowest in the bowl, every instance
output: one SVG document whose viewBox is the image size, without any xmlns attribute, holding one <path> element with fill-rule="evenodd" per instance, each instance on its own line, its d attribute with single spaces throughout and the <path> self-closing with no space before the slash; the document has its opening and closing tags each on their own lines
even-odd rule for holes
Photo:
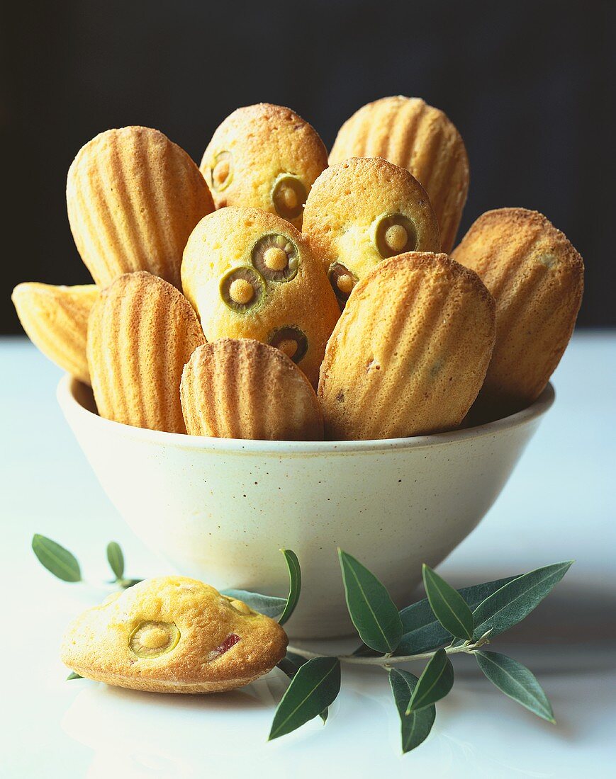
<svg viewBox="0 0 616 779">
<path fill-rule="evenodd" d="M 193 352 L 182 373 L 189 435 L 265 441 L 323 439 L 323 414 L 306 376 L 279 349 L 222 338 Z"/>
</svg>

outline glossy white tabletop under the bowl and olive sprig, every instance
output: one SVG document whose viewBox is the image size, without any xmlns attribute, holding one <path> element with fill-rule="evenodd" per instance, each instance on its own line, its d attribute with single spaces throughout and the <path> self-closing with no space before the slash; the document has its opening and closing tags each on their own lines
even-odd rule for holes
<svg viewBox="0 0 616 779">
<path fill-rule="evenodd" d="M 285 688 L 278 671 L 218 696 L 65 682 L 60 636 L 73 615 L 104 596 L 107 542 L 122 544 L 129 576 L 171 572 L 90 472 L 55 402 L 59 370 L 23 339 L 0 340 L 0 365 L 0 776 L 613 775 L 616 334 L 575 337 L 554 376 L 556 404 L 503 495 L 440 568 L 461 586 L 576 560 L 547 601 L 490 647 L 536 673 L 558 725 L 512 703 L 472 658 L 458 656 L 434 730 L 406 756 L 380 668 L 343 668 L 327 725 L 317 719 L 271 743 Z M 35 532 L 69 547 L 92 584 L 62 583 L 45 571 L 30 550 Z"/>
</svg>

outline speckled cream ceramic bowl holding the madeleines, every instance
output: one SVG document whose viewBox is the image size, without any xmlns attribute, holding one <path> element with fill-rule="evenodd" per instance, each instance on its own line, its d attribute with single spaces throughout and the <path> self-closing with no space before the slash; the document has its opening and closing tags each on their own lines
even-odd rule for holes
<svg viewBox="0 0 616 779">
<path fill-rule="evenodd" d="M 340 636 L 351 623 L 336 548 L 366 564 L 398 605 L 421 564 L 436 566 L 497 498 L 554 401 L 480 427 L 408 439 L 267 442 L 120 425 L 95 413 L 66 376 L 58 401 L 98 480 L 143 543 L 179 573 L 223 589 L 285 595 L 278 551 L 299 557 L 296 637 Z"/>
</svg>

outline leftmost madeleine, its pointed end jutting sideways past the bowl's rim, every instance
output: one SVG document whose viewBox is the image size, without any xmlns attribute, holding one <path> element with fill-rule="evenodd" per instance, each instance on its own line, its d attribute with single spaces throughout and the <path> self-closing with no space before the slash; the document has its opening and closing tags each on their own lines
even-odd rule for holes
<svg viewBox="0 0 616 779">
<path fill-rule="evenodd" d="M 12 291 L 19 322 L 32 343 L 45 357 L 87 384 L 87 319 L 97 297 L 94 284 L 55 287 L 26 282 Z"/>
</svg>

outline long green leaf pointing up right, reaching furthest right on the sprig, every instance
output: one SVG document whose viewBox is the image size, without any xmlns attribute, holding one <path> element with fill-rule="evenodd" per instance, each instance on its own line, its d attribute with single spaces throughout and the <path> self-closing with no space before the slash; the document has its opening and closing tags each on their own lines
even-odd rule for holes
<svg viewBox="0 0 616 779">
<path fill-rule="evenodd" d="M 491 629 L 490 640 L 521 622 L 565 576 L 572 560 L 538 568 L 505 584 L 473 612 L 477 640 Z"/>
</svg>

